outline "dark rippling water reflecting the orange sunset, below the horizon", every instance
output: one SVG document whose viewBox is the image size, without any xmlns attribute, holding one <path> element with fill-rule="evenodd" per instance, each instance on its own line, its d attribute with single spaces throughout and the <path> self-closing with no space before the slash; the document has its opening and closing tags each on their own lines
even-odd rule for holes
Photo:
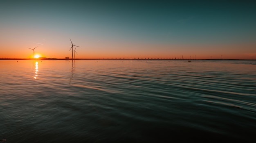
<svg viewBox="0 0 256 143">
<path fill-rule="evenodd" d="M 0 60 L 0 142 L 256 140 L 256 61 Z"/>
</svg>

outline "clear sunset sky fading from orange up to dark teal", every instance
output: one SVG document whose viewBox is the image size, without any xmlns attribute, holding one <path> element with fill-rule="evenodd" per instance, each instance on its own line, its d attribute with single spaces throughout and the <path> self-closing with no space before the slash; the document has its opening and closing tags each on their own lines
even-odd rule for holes
<svg viewBox="0 0 256 143">
<path fill-rule="evenodd" d="M 256 59 L 253 0 L 0 0 L 0 58 Z"/>
</svg>

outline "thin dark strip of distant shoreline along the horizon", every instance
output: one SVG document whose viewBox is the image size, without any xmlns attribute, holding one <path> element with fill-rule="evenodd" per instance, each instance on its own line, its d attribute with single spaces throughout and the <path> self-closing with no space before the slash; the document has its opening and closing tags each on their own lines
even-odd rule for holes
<svg viewBox="0 0 256 143">
<path fill-rule="evenodd" d="M 240 61 L 256 61 L 256 59 L 221 59 L 221 58 L 215 58 L 215 59 L 174 59 L 174 58 L 0 58 L 0 60 L 212 60 L 212 61 L 216 61 L 216 60 L 240 60 Z"/>
</svg>

